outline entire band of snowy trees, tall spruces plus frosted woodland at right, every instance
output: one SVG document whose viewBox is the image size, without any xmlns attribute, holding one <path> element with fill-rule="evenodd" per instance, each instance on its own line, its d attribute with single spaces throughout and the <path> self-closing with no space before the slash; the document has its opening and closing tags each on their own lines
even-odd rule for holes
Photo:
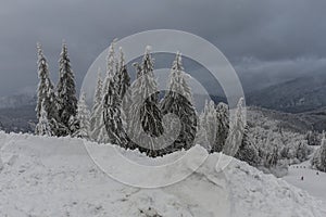
<svg viewBox="0 0 326 217">
<path fill-rule="evenodd" d="M 160 156 L 198 143 L 210 152 L 233 155 L 252 166 L 271 173 L 287 170 L 290 164 L 306 161 L 312 154 L 311 145 L 319 141 L 316 132 L 305 137 L 283 130 L 277 124 L 263 120 L 243 125 L 243 100 L 235 111 L 230 123 L 228 105 L 206 101 L 204 110 L 197 115 L 189 75 L 184 72 L 181 54 L 177 53 L 172 64 L 167 91 L 160 99 L 154 77 L 154 61 L 147 48 L 140 63 L 135 63 L 136 80 L 131 84 L 122 48 L 116 53 L 114 42 L 109 48 L 105 75 L 98 72 L 93 104 L 87 107 L 86 95 L 76 97 L 75 77 L 71 67 L 67 47 L 62 46 L 59 60 L 57 87 L 50 79 L 47 59 L 41 46 L 38 56 L 38 124 L 36 133 L 55 137 L 78 137 L 99 143 L 118 144 L 125 149 L 138 149 L 149 156 Z M 163 116 L 174 114 L 179 119 L 180 130 L 165 148 L 155 146 L 154 140 L 165 129 L 174 129 L 175 122 L 163 122 Z M 268 126 L 264 126 L 268 125 Z M 273 127 L 271 127 L 271 126 Z M 139 128 L 142 128 L 139 129 Z M 150 136 L 150 137 L 148 137 Z M 160 144 L 159 144 L 160 145 Z M 326 139 L 313 157 L 312 165 L 326 171 Z"/>
</svg>

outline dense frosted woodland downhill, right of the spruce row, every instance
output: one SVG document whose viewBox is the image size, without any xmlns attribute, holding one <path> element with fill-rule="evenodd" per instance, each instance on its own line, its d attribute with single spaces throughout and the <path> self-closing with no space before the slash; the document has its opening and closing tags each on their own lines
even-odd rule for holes
<svg viewBox="0 0 326 217">
<path fill-rule="evenodd" d="M 288 166 L 309 159 L 313 148 L 304 135 L 283 129 L 277 122 L 255 119 L 250 122 L 248 135 L 258 150 L 258 167 L 280 177 Z"/>
</svg>

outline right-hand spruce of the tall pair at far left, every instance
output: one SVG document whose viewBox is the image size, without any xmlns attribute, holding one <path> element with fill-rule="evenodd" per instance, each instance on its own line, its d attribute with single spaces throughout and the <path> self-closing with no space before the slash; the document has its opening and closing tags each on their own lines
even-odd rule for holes
<svg viewBox="0 0 326 217">
<path fill-rule="evenodd" d="M 59 64 L 59 82 L 57 88 L 59 116 L 61 124 L 65 127 L 65 130 L 60 136 L 67 136 L 73 135 L 78 127 L 75 126 L 76 122 L 73 120 L 77 114 L 76 85 L 66 43 L 62 44 Z"/>
</svg>

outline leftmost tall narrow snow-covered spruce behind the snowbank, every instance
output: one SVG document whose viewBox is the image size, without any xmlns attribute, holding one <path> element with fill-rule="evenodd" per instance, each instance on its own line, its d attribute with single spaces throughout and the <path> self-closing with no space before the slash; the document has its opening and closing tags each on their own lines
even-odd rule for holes
<svg viewBox="0 0 326 217">
<path fill-rule="evenodd" d="M 41 116 L 41 108 L 47 113 L 47 118 L 50 123 L 51 133 L 58 136 L 60 124 L 58 115 L 58 104 L 57 97 L 54 92 L 53 85 L 49 77 L 49 69 L 47 59 L 43 55 L 40 43 L 37 44 L 37 55 L 38 55 L 38 89 L 37 89 L 37 105 L 36 114 L 39 119 Z M 43 103 L 43 106 L 42 106 Z"/>
</svg>

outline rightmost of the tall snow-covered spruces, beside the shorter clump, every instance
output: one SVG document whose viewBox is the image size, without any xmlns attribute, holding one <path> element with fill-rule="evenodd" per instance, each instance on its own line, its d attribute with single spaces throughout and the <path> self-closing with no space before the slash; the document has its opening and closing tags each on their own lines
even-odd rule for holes
<svg viewBox="0 0 326 217">
<path fill-rule="evenodd" d="M 197 116 L 192 102 L 191 89 L 186 80 L 187 75 L 184 72 L 181 54 L 178 52 L 173 62 L 167 92 L 161 102 L 163 115 L 175 114 L 180 120 L 180 132 L 173 145 L 166 149 L 167 152 L 174 152 L 181 149 L 190 149 L 197 132 Z M 175 125 L 170 123 L 172 129 Z"/>
</svg>

